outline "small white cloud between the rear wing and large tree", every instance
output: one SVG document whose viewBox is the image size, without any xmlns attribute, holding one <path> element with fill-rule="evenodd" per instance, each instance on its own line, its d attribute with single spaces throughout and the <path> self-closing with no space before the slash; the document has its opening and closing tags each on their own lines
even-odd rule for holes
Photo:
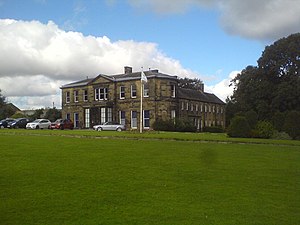
<svg viewBox="0 0 300 225">
<path fill-rule="evenodd" d="M 241 71 L 232 71 L 228 77 L 219 83 L 211 86 L 205 86 L 205 92 L 214 93 L 223 101 L 226 100 L 228 96 L 233 94 L 233 86 L 230 86 L 230 81 L 236 77 Z"/>
</svg>

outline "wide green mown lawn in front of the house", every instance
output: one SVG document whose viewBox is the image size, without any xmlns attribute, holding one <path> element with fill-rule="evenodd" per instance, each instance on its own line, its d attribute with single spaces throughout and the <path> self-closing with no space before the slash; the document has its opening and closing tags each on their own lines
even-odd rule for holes
<svg viewBox="0 0 300 225">
<path fill-rule="evenodd" d="M 299 141 L 199 135 L 1 130 L 0 224 L 300 224 Z"/>
</svg>

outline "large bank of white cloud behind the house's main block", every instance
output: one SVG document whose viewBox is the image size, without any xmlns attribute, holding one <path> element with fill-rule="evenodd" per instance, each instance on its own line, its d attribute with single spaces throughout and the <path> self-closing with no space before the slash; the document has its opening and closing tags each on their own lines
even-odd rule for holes
<svg viewBox="0 0 300 225">
<path fill-rule="evenodd" d="M 112 42 L 105 36 L 64 31 L 51 21 L 1 19 L 0 52 L 0 89 L 8 99 L 22 103 L 21 108 L 45 107 L 48 96 L 60 95 L 62 84 L 99 73 L 122 73 L 127 65 L 134 70 L 143 66 L 180 77 L 199 76 L 167 57 L 155 43 Z"/>
</svg>

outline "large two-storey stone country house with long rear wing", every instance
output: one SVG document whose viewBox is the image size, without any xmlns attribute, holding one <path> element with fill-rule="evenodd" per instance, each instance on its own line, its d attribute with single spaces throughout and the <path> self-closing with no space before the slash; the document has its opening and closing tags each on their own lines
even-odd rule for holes
<svg viewBox="0 0 300 225">
<path fill-rule="evenodd" d="M 126 66 L 123 74 L 98 75 L 66 84 L 62 89 L 62 115 L 76 128 L 91 128 L 107 121 L 124 124 L 126 130 L 140 129 L 141 85 L 143 85 L 142 128 L 151 129 L 157 119 L 188 119 L 199 131 L 225 125 L 225 104 L 214 94 L 180 88 L 177 76 L 158 70 L 141 72 Z"/>
</svg>

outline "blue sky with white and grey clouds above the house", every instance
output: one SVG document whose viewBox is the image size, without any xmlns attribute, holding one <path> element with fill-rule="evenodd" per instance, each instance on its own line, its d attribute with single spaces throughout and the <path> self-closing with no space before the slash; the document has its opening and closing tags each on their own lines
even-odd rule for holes
<svg viewBox="0 0 300 225">
<path fill-rule="evenodd" d="M 61 108 L 62 85 L 131 66 L 225 100 L 265 46 L 299 31 L 300 0 L 0 0 L 1 94 Z"/>
</svg>

